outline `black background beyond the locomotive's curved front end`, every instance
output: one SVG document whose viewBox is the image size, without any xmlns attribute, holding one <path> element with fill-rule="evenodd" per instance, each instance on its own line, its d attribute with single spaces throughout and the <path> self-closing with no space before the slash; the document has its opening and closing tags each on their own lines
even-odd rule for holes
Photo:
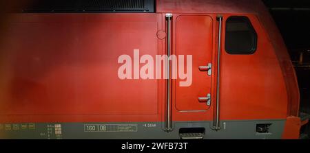
<svg viewBox="0 0 310 153">
<path fill-rule="evenodd" d="M 300 112 L 310 113 L 310 1 L 263 0 L 276 21 L 298 76 Z M 304 127 L 309 133 L 309 126 Z"/>
</svg>

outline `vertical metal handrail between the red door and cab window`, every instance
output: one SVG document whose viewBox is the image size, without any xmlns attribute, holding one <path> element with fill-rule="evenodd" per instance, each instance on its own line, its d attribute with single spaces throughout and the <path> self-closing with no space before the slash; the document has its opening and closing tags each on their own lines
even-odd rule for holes
<svg viewBox="0 0 310 153">
<path fill-rule="evenodd" d="M 217 78 L 216 78 L 216 122 L 215 130 L 220 130 L 220 47 L 222 45 L 222 22 L 223 16 L 218 15 L 218 69 L 217 69 Z"/>
</svg>

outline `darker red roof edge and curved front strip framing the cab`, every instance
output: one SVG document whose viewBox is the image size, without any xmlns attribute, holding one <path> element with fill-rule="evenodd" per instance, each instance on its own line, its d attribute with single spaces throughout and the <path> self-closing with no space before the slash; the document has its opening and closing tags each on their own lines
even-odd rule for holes
<svg viewBox="0 0 310 153">
<path fill-rule="evenodd" d="M 266 37 L 271 44 L 274 54 L 278 60 L 283 77 L 285 78 L 285 88 L 287 91 L 287 116 L 298 116 L 299 110 L 299 90 L 296 73 L 291 64 L 287 48 L 282 40 L 281 34 L 276 27 L 271 15 L 265 5 L 260 0 L 157 0 L 156 12 L 171 13 L 211 13 L 211 14 L 252 14 L 258 19 L 260 26 L 265 32 Z M 252 23 L 253 24 L 253 23 Z M 255 25 L 254 25 L 255 26 Z M 261 36 L 258 36 L 259 38 Z M 267 47 L 264 47 L 267 48 Z"/>
</svg>

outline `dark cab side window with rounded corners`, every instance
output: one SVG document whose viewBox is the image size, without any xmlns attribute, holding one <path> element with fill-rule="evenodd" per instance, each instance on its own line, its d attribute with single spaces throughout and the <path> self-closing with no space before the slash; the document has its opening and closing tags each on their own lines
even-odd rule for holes
<svg viewBox="0 0 310 153">
<path fill-rule="evenodd" d="M 246 16 L 230 16 L 226 21 L 225 50 L 228 54 L 254 54 L 257 34 Z"/>
</svg>

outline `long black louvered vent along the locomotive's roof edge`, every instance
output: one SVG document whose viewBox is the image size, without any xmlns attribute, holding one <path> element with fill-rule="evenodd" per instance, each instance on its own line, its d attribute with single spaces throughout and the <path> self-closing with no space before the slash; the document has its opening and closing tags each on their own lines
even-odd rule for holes
<svg viewBox="0 0 310 153">
<path fill-rule="evenodd" d="M 35 0 L 22 12 L 154 12 L 154 0 Z"/>
</svg>

